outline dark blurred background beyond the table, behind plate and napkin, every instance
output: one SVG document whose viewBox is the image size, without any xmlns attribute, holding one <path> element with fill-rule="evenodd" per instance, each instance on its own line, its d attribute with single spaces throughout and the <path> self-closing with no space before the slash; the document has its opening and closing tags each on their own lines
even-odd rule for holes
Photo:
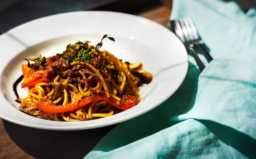
<svg viewBox="0 0 256 159">
<path fill-rule="evenodd" d="M 225 0 L 230 1 L 230 0 Z M 247 11 L 255 0 L 234 0 Z M 140 10 L 171 0 L 0 0 L 0 35 L 22 23 L 57 13 L 81 10 L 118 11 L 136 14 Z"/>
</svg>

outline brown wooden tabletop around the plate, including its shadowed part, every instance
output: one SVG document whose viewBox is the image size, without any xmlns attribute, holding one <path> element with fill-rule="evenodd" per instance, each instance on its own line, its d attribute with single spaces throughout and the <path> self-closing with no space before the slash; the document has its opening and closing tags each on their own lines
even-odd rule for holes
<svg viewBox="0 0 256 159">
<path fill-rule="evenodd" d="M 166 25 L 171 3 L 161 1 L 135 15 Z M 0 119 L 0 159 L 83 158 L 116 125 L 79 131 L 29 128 Z"/>
</svg>

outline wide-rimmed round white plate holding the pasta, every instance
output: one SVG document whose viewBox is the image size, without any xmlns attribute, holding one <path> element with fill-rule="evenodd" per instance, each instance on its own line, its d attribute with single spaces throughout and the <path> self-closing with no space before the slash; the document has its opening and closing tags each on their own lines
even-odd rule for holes
<svg viewBox="0 0 256 159">
<path fill-rule="evenodd" d="M 47 121 L 19 110 L 13 83 L 22 74 L 22 57 L 52 56 L 78 40 L 97 44 L 104 34 L 105 49 L 120 59 L 141 62 L 153 81 L 140 89 L 141 102 L 110 117 L 79 122 Z M 168 99 L 183 82 L 188 69 L 186 49 L 168 29 L 151 20 L 124 13 L 78 11 L 27 22 L 0 36 L 0 117 L 32 128 L 83 130 L 120 123 L 139 116 Z M 26 96 L 24 90 L 18 90 Z"/>
</svg>

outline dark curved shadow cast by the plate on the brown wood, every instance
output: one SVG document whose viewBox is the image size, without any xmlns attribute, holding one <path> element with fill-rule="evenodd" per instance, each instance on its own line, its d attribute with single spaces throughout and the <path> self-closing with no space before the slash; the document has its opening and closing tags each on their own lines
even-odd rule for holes
<svg viewBox="0 0 256 159">
<path fill-rule="evenodd" d="M 37 159 L 83 158 L 116 125 L 90 130 L 53 131 L 29 128 L 3 120 L 9 137 Z"/>
</svg>

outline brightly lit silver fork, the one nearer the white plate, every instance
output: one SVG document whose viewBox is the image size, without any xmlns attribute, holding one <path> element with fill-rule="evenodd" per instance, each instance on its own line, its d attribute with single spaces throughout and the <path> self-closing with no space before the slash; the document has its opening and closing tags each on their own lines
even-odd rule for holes
<svg viewBox="0 0 256 159">
<path fill-rule="evenodd" d="M 170 20 L 166 24 L 166 27 L 168 29 L 170 29 L 174 34 L 176 34 L 178 36 L 178 38 L 180 38 L 182 43 L 185 45 L 187 51 L 195 59 L 195 62 L 197 63 L 200 72 L 202 72 L 203 69 L 205 68 L 205 66 L 202 63 L 202 61 L 200 60 L 200 58 L 198 57 L 195 49 L 193 48 L 194 44 L 190 40 L 191 38 L 189 37 L 189 34 L 188 34 L 188 31 L 184 24 L 184 21 L 183 20 Z"/>
</svg>

